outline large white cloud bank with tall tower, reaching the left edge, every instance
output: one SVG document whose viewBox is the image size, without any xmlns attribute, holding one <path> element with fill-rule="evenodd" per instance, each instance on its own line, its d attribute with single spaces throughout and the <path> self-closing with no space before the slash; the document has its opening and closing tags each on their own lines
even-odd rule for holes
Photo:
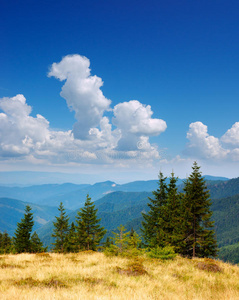
<svg viewBox="0 0 239 300">
<path fill-rule="evenodd" d="M 167 128 L 152 118 L 149 105 L 137 100 L 111 107 L 101 90 L 103 81 L 91 75 L 90 61 L 68 55 L 50 67 L 49 77 L 63 82 L 61 96 L 75 113 L 72 130 L 55 131 L 41 115 L 31 116 L 23 95 L 0 99 L 0 158 L 49 164 L 139 162 L 159 159 L 150 137 Z M 105 116 L 107 112 L 107 116 Z"/>
</svg>

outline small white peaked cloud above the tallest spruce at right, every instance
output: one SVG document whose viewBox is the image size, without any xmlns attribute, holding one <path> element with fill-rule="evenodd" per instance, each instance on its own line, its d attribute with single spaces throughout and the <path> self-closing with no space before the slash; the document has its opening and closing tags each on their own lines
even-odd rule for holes
<svg viewBox="0 0 239 300">
<path fill-rule="evenodd" d="M 229 150 L 224 149 L 218 138 L 208 134 L 208 128 L 202 122 L 195 122 L 189 125 L 187 133 L 189 144 L 186 153 L 204 159 L 226 158 Z"/>
</svg>

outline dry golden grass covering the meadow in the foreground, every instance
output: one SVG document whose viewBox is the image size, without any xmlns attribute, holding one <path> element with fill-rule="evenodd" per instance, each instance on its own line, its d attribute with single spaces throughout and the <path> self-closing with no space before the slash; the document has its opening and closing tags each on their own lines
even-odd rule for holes
<svg viewBox="0 0 239 300">
<path fill-rule="evenodd" d="M 1 300 L 239 299 L 239 268 L 209 259 L 158 261 L 102 253 L 0 256 Z"/>
</svg>

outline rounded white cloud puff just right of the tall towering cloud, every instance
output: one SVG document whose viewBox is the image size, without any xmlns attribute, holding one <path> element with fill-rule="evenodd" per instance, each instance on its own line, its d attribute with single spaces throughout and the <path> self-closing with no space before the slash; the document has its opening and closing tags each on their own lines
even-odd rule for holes
<svg viewBox="0 0 239 300">
<path fill-rule="evenodd" d="M 113 113 L 113 124 L 121 132 L 119 150 L 151 149 L 148 137 L 159 135 L 167 128 L 165 121 L 151 118 L 150 105 L 145 106 L 137 100 L 117 104 Z"/>
</svg>

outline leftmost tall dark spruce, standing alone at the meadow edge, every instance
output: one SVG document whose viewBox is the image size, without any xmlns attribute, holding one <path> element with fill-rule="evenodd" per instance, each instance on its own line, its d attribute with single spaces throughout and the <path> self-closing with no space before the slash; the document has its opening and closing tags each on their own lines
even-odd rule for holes
<svg viewBox="0 0 239 300">
<path fill-rule="evenodd" d="M 17 224 L 15 237 L 13 238 L 15 251 L 17 253 L 31 252 L 31 232 L 33 228 L 33 214 L 29 205 L 25 208 L 24 218 Z"/>
</svg>

